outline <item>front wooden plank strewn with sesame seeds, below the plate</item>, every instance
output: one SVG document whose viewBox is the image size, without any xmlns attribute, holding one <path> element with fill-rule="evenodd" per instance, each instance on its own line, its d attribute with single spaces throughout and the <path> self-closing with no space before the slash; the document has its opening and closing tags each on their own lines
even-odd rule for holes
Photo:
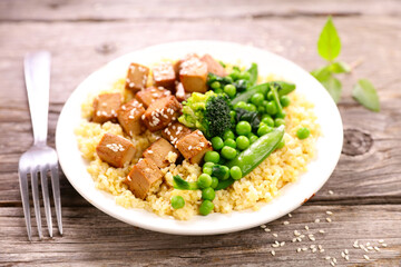
<svg viewBox="0 0 401 267">
<path fill-rule="evenodd" d="M 333 215 L 327 215 L 330 210 Z M 325 218 L 332 218 L 327 222 Z M 314 222 L 315 219 L 320 222 Z M 0 208 L 0 264 L 51 266 L 61 264 L 137 266 L 330 266 L 324 257 L 335 257 L 342 265 L 397 266 L 401 259 L 400 205 L 376 206 L 303 206 L 292 214 L 267 225 L 270 233 L 253 229 L 217 236 L 174 236 L 153 233 L 120 222 L 95 208 L 63 208 L 65 236 L 27 241 L 22 210 Z M 288 225 L 284 225 L 288 221 Z M 305 229 L 309 226 L 309 230 Z M 294 230 L 305 235 L 293 243 Z M 324 234 L 319 233 L 324 230 Z M 36 230 L 33 230 L 36 235 Z M 47 233 L 46 233 L 47 234 Z M 273 236 L 277 234 L 277 237 Z M 309 235 L 313 235 L 314 241 Z M 380 245 L 384 239 L 388 247 Z M 285 241 L 278 248 L 275 241 Z M 380 251 L 353 248 L 359 240 L 378 246 Z M 313 253 L 311 245 L 317 251 Z M 320 253 L 321 245 L 324 251 Z M 307 251 L 296 253 L 306 247 Z M 369 247 L 369 245 L 366 246 Z M 271 250 L 276 255 L 272 256 Z M 350 260 L 341 257 L 349 250 Z M 370 261 L 363 258 L 369 255 Z"/>
</svg>

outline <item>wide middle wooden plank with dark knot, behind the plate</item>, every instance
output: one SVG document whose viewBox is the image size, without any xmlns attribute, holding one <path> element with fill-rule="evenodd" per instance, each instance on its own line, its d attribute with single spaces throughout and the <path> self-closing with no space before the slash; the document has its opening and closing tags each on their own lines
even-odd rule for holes
<svg viewBox="0 0 401 267">
<path fill-rule="evenodd" d="M 26 51 L 43 48 L 53 55 L 49 115 L 49 144 L 53 145 L 57 118 L 70 92 L 87 75 L 119 55 L 176 40 L 182 37 L 182 32 L 187 32 L 187 39 L 209 38 L 211 28 L 214 28 L 216 39 L 253 43 L 311 70 L 322 65 L 316 56 L 315 40 L 323 23 L 324 18 L 277 18 L 274 23 L 268 20 L 241 20 L 176 21 L 168 24 L 153 21 L 0 24 L 0 34 L 8 40 L 0 42 L 0 71 L 3 73 L 0 85 L 4 89 L 0 90 L 0 128 L 8 129 L 0 136 L 0 180 L 3 188 L 0 204 L 20 205 L 17 164 L 19 156 L 32 141 L 21 71 L 21 60 Z M 362 56 L 365 63 L 360 66 L 354 75 L 343 79 L 344 100 L 339 107 L 346 129 L 344 154 L 332 178 L 312 201 L 321 204 L 335 200 L 352 204 L 358 199 L 365 204 L 400 202 L 401 181 L 398 166 L 401 161 L 401 98 L 397 82 L 400 78 L 393 70 L 401 69 L 401 53 L 398 48 L 401 22 L 398 18 L 381 17 L 372 21 L 361 17 L 336 18 L 335 23 L 344 42 L 341 59 L 353 61 Z M 143 29 L 144 40 L 137 42 L 131 34 L 125 34 L 127 29 Z M 235 29 L 235 34 L 229 29 Z M 374 36 L 371 34 L 373 31 L 376 32 Z M 19 41 L 22 32 L 28 34 L 29 42 Z M 65 37 L 60 38 L 60 32 Z M 110 36 L 114 37 L 113 40 L 109 39 Z M 361 40 L 370 44 L 360 46 Z M 115 50 L 104 53 L 99 47 L 105 43 L 111 43 Z M 372 47 L 375 48 L 374 51 Z M 374 63 L 371 63 L 371 60 L 374 60 Z M 369 77 L 376 86 L 382 102 L 380 113 L 369 112 L 351 99 L 351 88 L 356 77 Z M 372 139 L 372 142 L 364 141 L 364 138 Z M 75 196 L 76 192 L 68 181 L 62 180 L 62 185 L 66 196 Z M 335 194 L 330 195 L 329 189 Z M 63 205 L 87 205 L 81 198 L 72 199 L 72 204 L 65 201 Z"/>
</svg>

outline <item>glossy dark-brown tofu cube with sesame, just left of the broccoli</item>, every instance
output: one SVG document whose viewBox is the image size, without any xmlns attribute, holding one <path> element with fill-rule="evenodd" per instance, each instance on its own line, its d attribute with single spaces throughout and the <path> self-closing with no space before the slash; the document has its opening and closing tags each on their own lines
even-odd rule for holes
<svg viewBox="0 0 401 267">
<path fill-rule="evenodd" d="M 158 131 L 176 120 L 182 105 L 174 96 L 157 99 L 145 111 L 144 122 L 150 131 Z"/>
</svg>

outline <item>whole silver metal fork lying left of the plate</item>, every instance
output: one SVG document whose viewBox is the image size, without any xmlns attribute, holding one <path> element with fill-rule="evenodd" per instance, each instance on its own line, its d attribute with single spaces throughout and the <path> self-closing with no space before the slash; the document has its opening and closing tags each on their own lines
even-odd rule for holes
<svg viewBox="0 0 401 267">
<path fill-rule="evenodd" d="M 28 175 L 30 175 L 31 178 L 32 199 L 39 238 L 42 239 L 43 235 L 40 217 L 38 177 L 40 177 L 49 236 L 52 237 L 49 188 L 47 180 L 48 172 L 50 172 L 51 177 L 57 224 L 61 235 L 62 222 L 57 154 L 55 149 L 46 145 L 49 111 L 50 53 L 47 51 L 39 51 L 27 55 L 23 61 L 23 67 L 35 141 L 33 146 L 21 156 L 19 160 L 18 175 L 28 238 L 31 240 L 32 235 L 29 209 Z"/>
</svg>

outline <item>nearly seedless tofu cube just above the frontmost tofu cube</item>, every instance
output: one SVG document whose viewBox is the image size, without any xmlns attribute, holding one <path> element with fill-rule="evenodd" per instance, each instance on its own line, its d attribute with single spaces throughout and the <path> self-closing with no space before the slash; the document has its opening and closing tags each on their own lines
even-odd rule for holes
<svg viewBox="0 0 401 267">
<path fill-rule="evenodd" d="M 177 156 L 174 158 L 177 160 L 179 155 L 178 150 L 175 149 L 166 139 L 159 138 L 144 151 L 143 156 L 144 158 L 151 159 L 157 165 L 157 167 L 166 168 L 170 164 L 175 162 L 175 160 L 168 158 L 169 152 L 176 154 Z"/>
</svg>

